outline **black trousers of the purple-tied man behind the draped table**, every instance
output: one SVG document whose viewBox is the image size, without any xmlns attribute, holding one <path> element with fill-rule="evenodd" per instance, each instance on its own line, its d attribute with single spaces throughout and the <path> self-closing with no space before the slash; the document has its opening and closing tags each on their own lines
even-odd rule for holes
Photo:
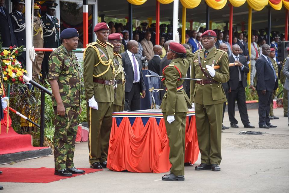
<svg viewBox="0 0 289 193">
<path fill-rule="evenodd" d="M 126 92 L 124 98 L 129 101 L 131 111 L 138 111 L 141 109 L 141 85 L 139 82 L 133 83 L 132 90 Z"/>
</svg>

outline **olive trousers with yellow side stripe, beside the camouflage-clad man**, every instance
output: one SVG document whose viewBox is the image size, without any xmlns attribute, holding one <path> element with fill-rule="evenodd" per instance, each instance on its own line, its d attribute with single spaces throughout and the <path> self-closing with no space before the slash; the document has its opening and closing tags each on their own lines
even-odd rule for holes
<svg viewBox="0 0 289 193">
<path fill-rule="evenodd" d="M 89 126 L 89 163 L 107 160 L 110 130 L 112 125 L 113 103 L 98 102 L 98 110 L 87 103 L 87 122 Z"/>
</svg>

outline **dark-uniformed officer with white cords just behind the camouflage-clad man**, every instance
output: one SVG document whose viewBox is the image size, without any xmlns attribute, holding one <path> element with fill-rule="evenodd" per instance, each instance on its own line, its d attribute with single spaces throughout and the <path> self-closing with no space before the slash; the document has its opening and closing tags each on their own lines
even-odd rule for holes
<svg viewBox="0 0 289 193">
<path fill-rule="evenodd" d="M 56 17 L 54 17 L 57 3 L 47 2 L 47 12 L 42 16 L 41 24 L 43 27 L 44 47 L 45 48 L 58 48 L 60 46 L 59 27 L 60 23 Z M 47 77 L 48 74 L 48 58 L 51 52 L 45 52 L 42 62 L 42 76 Z"/>
</svg>

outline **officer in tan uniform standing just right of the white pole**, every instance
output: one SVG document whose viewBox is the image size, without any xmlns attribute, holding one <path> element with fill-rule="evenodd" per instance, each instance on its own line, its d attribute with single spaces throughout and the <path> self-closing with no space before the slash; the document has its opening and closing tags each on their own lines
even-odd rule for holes
<svg viewBox="0 0 289 193">
<path fill-rule="evenodd" d="M 33 5 L 33 46 L 35 48 L 43 48 L 43 29 L 39 18 L 40 1 L 34 1 Z M 36 52 L 36 56 L 32 66 L 33 80 L 37 80 L 41 72 L 44 52 Z"/>
</svg>

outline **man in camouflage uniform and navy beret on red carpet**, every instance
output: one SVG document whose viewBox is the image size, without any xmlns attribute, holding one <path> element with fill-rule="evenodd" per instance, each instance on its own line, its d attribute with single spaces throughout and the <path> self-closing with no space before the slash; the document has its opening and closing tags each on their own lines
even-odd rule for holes
<svg viewBox="0 0 289 193">
<path fill-rule="evenodd" d="M 54 163 L 55 175 L 72 176 L 84 173 L 73 164 L 75 139 L 80 106 L 79 66 L 72 50 L 78 46 L 78 32 L 74 28 L 62 31 L 62 44 L 49 57 L 48 80 L 54 108 Z"/>
</svg>

